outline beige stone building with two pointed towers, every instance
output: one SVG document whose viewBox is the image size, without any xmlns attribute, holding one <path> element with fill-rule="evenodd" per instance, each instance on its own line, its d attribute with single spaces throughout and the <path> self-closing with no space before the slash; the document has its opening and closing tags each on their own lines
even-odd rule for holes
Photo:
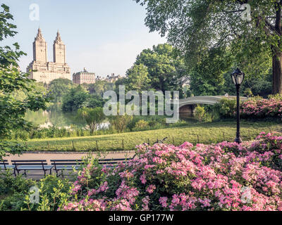
<svg viewBox="0 0 282 225">
<path fill-rule="evenodd" d="M 54 62 L 47 61 L 47 42 L 40 28 L 33 42 L 33 60 L 27 66 L 28 78 L 49 84 L 53 79 L 71 79 L 71 68 L 66 63 L 66 45 L 61 40 L 59 31 L 53 44 Z"/>
</svg>

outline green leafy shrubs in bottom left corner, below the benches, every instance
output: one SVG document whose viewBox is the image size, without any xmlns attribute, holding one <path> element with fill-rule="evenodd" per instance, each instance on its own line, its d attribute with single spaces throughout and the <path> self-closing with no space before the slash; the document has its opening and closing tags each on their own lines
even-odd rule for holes
<svg viewBox="0 0 282 225">
<path fill-rule="evenodd" d="M 39 181 L 13 176 L 11 172 L 0 175 L 0 211 L 56 211 L 71 196 L 72 182 L 56 176 L 46 176 Z M 39 189 L 39 204 L 30 203 L 30 188 Z"/>
</svg>

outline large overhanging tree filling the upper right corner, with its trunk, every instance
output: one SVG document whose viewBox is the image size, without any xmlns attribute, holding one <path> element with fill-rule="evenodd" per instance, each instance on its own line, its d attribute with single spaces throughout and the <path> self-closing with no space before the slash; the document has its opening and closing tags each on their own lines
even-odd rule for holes
<svg viewBox="0 0 282 225">
<path fill-rule="evenodd" d="M 281 0 L 135 1 L 147 6 L 145 24 L 150 31 L 167 34 L 191 67 L 220 48 L 231 53 L 231 66 L 243 68 L 247 79 L 265 75 L 272 65 L 272 91 L 282 94 Z M 251 20 L 244 4 L 250 5 Z"/>
</svg>

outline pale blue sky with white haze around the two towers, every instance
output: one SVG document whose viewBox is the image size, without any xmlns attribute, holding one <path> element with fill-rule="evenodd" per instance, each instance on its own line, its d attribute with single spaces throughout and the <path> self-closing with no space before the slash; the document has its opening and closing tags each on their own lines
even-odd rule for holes
<svg viewBox="0 0 282 225">
<path fill-rule="evenodd" d="M 59 30 L 66 44 L 66 63 L 71 74 L 86 68 L 96 75 L 125 75 L 136 56 L 166 39 L 145 26 L 146 9 L 133 0 L 2 0 L 10 7 L 17 25 L 16 37 L 2 43 L 18 42 L 27 56 L 20 58 L 25 71 L 32 61 L 32 42 L 38 27 L 47 41 L 48 60 L 53 61 L 53 42 Z M 34 18 L 39 6 L 39 20 Z"/>
</svg>

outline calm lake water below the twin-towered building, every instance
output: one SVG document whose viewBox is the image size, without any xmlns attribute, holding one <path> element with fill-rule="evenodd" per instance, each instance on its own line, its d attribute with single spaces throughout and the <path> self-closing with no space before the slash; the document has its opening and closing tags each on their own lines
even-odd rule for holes
<svg viewBox="0 0 282 225">
<path fill-rule="evenodd" d="M 51 105 L 47 110 L 28 111 L 25 114 L 25 119 L 42 128 L 51 126 L 69 128 L 71 124 L 82 128 L 86 125 L 76 118 L 75 113 L 63 113 L 61 104 Z M 99 129 L 106 127 L 109 127 L 109 122 L 99 125 Z"/>
</svg>

